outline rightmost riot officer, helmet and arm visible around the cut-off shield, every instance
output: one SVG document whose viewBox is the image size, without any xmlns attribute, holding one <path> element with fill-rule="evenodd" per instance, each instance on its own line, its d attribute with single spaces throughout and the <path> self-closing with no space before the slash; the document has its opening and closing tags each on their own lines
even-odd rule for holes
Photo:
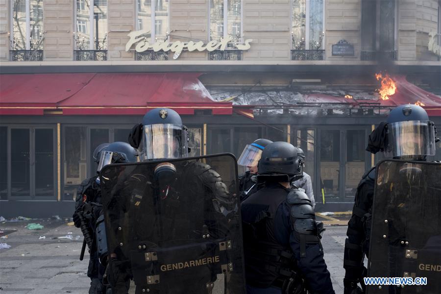
<svg viewBox="0 0 441 294">
<path fill-rule="evenodd" d="M 367 151 L 383 151 L 385 158 L 426 161 L 435 154 L 435 126 L 420 106 L 407 104 L 391 110 L 387 122 L 382 122 L 369 135 Z M 344 294 L 363 293 L 364 255 L 369 254 L 376 171 L 363 175 L 355 194 L 352 217 L 348 223 L 344 246 Z"/>
</svg>

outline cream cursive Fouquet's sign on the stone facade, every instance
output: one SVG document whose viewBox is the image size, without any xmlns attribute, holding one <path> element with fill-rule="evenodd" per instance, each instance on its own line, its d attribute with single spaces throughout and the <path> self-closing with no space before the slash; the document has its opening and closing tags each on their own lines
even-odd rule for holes
<svg viewBox="0 0 441 294">
<path fill-rule="evenodd" d="M 160 50 L 163 50 L 165 52 L 172 51 L 175 54 L 173 55 L 173 59 L 176 59 L 179 57 L 183 49 L 187 49 L 188 51 L 214 51 L 214 50 L 225 50 L 228 46 L 228 43 L 233 40 L 231 36 L 228 36 L 226 39 L 221 38 L 220 41 L 212 40 L 208 43 L 204 43 L 202 41 L 199 42 L 181 42 L 181 41 L 175 41 L 175 42 L 168 42 L 168 41 L 158 41 L 153 44 L 149 44 L 147 41 L 146 36 L 150 35 L 149 30 L 138 30 L 130 32 L 127 36 L 130 37 L 130 40 L 125 45 L 125 51 L 128 51 L 132 48 L 133 45 L 135 45 L 136 52 L 144 52 L 148 49 L 153 49 L 153 51 L 158 52 Z M 251 43 L 252 39 L 246 39 L 244 44 L 235 44 L 233 45 L 233 48 L 236 50 L 248 50 L 250 49 L 249 43 Z"/>
</svg>

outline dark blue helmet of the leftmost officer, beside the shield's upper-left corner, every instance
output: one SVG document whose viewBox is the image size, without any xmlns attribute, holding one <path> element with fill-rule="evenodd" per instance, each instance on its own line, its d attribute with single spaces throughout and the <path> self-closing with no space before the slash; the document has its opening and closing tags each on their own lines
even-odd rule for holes
<svg viewBox="0 0 441 294">
<path fill-rule="evenodd" d="M 138 152 L 125 142 L 114 142 L 101 149 L 98 154 L 98 172 L 111 163 L 136 162 Z"/>
</svg>

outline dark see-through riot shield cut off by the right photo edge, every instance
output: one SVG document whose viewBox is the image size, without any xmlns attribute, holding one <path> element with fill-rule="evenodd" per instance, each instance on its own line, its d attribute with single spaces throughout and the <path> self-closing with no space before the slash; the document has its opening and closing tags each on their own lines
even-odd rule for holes
<svg viewBox="0 0 441 294">
<path fill-rule="evenodd" d="M 383 281 L 372 293 L 441 293 L 441 164 L 385 160 L 376 167 L 368 260 L 369 277 L 427 278 Z M 398 282 L 398 285 L 391 285 Z M 402 284 L 401 284 L 402 283 Z M 405 285 L 406 284 L 406 285 Z"/>
</svg>

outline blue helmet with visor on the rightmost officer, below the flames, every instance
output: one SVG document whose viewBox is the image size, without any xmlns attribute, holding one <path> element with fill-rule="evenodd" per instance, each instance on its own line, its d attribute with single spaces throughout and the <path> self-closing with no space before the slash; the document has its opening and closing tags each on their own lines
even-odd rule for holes
<svg viewBox="0 0 441 294">
<path fill-rule="evenodd" d="M 421 106 L 405 104 L 391 110 L 386 125 L 386 158 L 435 155 L 435 142 L 435 124 Z"/>
</svg>

